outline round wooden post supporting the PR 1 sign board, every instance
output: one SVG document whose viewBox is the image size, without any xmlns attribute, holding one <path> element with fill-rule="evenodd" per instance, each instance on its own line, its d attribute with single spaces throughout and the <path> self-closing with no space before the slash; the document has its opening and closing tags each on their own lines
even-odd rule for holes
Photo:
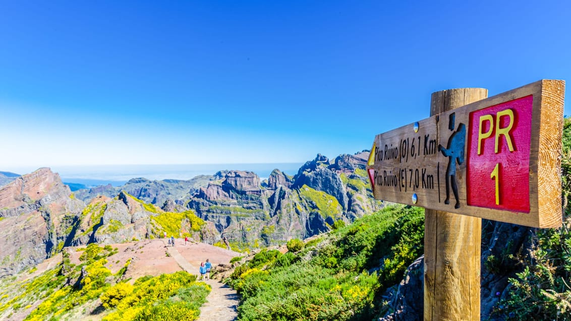
<svg viewBox="0 0 571 321">
<path fill-rule="evenodd" d="M 431 116 L 487 96 L 484 88 L 435 92 Z M 424 320 L 480 320 L 481 225 L 479 217 L 425 210 Z"/>
</svg>

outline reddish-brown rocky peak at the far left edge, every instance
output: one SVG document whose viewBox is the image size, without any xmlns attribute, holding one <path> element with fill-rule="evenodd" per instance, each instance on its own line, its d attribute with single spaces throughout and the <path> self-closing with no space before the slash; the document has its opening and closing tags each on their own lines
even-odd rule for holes
<svg viewBox="0 0 571 321">
<path fill-rule="evenodd" d="M 68 242 L 85 204 L 41 168 L 0 188 L 0 278 L 38 264 Z"/>
</svg>

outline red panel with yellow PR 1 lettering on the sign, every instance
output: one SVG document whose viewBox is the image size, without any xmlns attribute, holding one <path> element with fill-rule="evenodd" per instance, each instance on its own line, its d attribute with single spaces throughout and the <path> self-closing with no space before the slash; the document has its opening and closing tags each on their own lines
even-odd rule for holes
<svg viewBox="0 0 571 321">
<path fill-rule="evenodd" d="M 470 113 L 467 203 L 529 213 L 533 96 Z"/>
</svg>

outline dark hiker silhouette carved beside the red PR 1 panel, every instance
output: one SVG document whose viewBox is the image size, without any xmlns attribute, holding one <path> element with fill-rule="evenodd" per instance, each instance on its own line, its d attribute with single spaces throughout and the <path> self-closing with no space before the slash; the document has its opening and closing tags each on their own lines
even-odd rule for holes
<svg viewBox="0 0 571 321">
<path fill-rule="evenodd" d="M 455 127 L 455 113 L 452 113 L 449 117 L 448 129 L 451 131 Z M 448 139 L 447 148 L 442 145 L 438 145 L 438 150 L 443 153 L 444 156 L 448 157 L 448 167 L 446 168 L 446 200 L 444 204 L 450 204 L 450 187 L 452 185 L 452 193 L 454 193 L 454 198 L 456 199 L 456 204 L 454 208 L 460 208 L 460 202 L 458 200 L 458 184 L 456 182 L 456 162 L 461 165 L 464 162 L 464 146 L 466 145 L 466 126 L 462 123 L 458 124 L 458 129 L 452 133 Z"/>
</svg>

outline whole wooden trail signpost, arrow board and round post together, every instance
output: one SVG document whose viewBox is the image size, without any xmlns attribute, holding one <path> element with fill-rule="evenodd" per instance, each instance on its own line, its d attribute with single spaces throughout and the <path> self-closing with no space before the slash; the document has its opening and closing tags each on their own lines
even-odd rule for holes
<svg viewBox="0 0 571 321">
<path fill-rule="evenodd" d="M 431 117 L 375 137 L 375 198 L 427 209 L 425 320 L 480 319 L 481 218 L 561 225 L 564 93 L 562 80 L 436 92 Z"/>
</svg>

